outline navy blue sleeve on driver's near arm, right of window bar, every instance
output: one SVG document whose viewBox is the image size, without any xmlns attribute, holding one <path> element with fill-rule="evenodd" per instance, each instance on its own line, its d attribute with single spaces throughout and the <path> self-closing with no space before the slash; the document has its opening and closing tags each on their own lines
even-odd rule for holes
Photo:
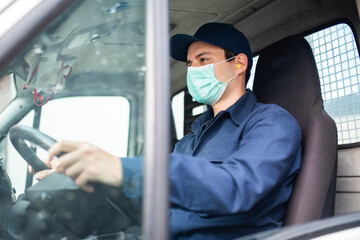
<svg viewBox="0 0 360 240">
<path fill-rule="evenodd" d="M 300 166 L 300 130 L 284 111 L 262 114 L 246 127 L 238 150 L 214 164 L 170 155 L 170 201 L 206 214 L 247 212 Z"/>
</svg>

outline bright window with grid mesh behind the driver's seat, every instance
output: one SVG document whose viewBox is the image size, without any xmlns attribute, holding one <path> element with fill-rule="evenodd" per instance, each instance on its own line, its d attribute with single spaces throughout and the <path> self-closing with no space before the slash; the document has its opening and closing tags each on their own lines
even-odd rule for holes
<svg viewBox="0 0 360 240">
<path fill-rule="evenodd" d="M 305 37 L 319 71 L 324 107 L 338 129 L 338 143 L 360 141 L 360 59 L 347 24 L 338 24 Z"/>
</svg>

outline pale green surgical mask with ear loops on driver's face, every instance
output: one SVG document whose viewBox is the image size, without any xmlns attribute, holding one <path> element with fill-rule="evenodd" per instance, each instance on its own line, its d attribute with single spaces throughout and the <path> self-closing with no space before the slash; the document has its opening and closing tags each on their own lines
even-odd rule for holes
<svg viewBox="0 0 360 240">
<path fill-rule="evenodd" d="M 236 78 L 235 75 L 226 82 L 220 82 L 215 77 L 214 66 L 231 60 L 228 58 L 216 64 L 208 64 L 201 67 L 188 67 L 187 69 L 187 87 L 190 95 L 199 103 L 213 105 L 219 101 L 225 92 L 227 84 Z"/>
</svg>

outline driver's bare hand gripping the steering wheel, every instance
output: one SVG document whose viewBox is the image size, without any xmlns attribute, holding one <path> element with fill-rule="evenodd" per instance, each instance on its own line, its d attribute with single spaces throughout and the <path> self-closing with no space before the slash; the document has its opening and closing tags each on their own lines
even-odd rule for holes
<svg viewBox="0 0 360 240">
<path fill-rule="evenodd" d="M 62 155 L 60 161 L 55 163 L 56 158 L 54 157 L 61 152 L 66 152 L 66 154 Z M 87 192 L 95 190 L 91 182 L 100 182 L 115 187 L 122 185 L 121 160 L 86 142 L 59 141 L 55 143 L 49 149 L 47 162 L 51 165 L 55 164 L 57 172 L 71 177 Z"/>
</svg>

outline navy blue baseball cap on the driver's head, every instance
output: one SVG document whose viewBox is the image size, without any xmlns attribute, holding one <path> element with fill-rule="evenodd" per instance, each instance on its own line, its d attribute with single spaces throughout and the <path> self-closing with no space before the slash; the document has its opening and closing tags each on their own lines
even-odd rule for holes
<svg viewBox="0 0 360 240">
<path fill-rule="evenodd" d="M 176 34 L 170 38 L 170 55 L 172 58 L 186 62 L 187 51 L 195 41 L 207 42 L 212 45 L 233 51 L 235 54 L 244 53 L 248 58 L 248 69 L 252 67 L 252 52 L 245 35 L 227 23 L 206 23 L 202 25 L 194 36 Z"/>
</svg>

